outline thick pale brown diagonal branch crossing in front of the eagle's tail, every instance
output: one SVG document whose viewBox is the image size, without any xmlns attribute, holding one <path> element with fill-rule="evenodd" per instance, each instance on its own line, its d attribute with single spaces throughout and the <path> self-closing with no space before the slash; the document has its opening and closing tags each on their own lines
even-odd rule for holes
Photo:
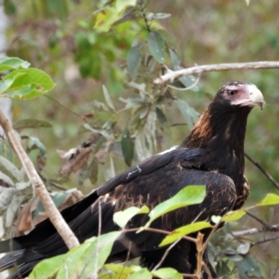
<svg viewBox="0 0 279 279">
<path fill-rule="evenodd" d="M 75 234 L 73 234 L 73 232 L 70 230 L 66 221 L 62 218 L 54 202 L 50 198 L 50 195 L 47 192 L 43 181 L 40 179 L 40 176 L 36 172 L 32 161 L 27 156 L 27 153 L 24 151 L 22 145 L 20 144 L 20 141 L 18 140 L 15 130 L 13 130 L 13 127 L 10 124 L 10 121 L 8 121 L 1 110 L 0 125 L 5 131 L 8 141 L 10 142 L 10 146 L 12 146 L 13 151 L 20 159 L 20 162 L 22 163 L 27 176 L 31 181 L 31 185 L 33 187 L 33 195 L 38 195 L 38 197 L 40 198 L 40 202 L 42 202 L 47 216 L 50 218 L 57 232 L 59 232 L 63 241 L 66 243 L 66 246 L 69 248 L 69 250 L 75 248 L 76 246 L 79 246 L 80 243 L 77 240 Z"/>
</svg>

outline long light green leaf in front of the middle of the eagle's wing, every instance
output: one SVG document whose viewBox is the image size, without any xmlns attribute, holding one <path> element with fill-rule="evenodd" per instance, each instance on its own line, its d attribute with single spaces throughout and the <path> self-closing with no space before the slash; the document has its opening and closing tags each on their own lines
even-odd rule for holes
<svg viewBox="0 0 279 279">
<path fill-rule="evenodd" d="M 153 220 L 163 216 L 169 211 L 179 209 L 184 206 L 191 204 L 199 204 L 204 200 L 206 194 L 205 186 L 186 186 L 182 188 L 179 193 L 167 199 L 165 202 L 158 204 L 155 208 L 149 213 L 150 220 L 144 227 L 149 227 Z"/>
</svg>

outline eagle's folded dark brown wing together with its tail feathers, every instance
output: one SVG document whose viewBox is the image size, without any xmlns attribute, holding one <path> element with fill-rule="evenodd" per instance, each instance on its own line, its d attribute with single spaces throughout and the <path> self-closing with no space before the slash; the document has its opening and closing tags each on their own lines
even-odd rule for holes
<svg viewBox="0 0 279 279">
<path fill-rule="evenodd" d="M 62 216 L 82 243 L 89 237 L 98 235 L 99 214 L 102 233 L 118 230 L 119 227 L 112 219 L 116 211 L 143 205 L 153 209 L 189 185 L 206 185 L 204 201 L 167 213 L 155 220 L 152 227 L 171 231 L 195 220 L 211 220 L 212 215 L 221 216 L 232 209 L 236 190 L 229 176 L 200 169 L 206 156 L 210 156 L 210 153 L 205 149 L 179 147 L 148 158 L 93 190 L 82 201 L 62 211 Z M 140 214 L 130 220 L 127 228 L 140 227 L 147 220 L 147 214 Z M 127 240 L 137 250 L 131 257 L 137 257 L 142 251 L 158 249 L 163 237 L 163 234 L 153 232 L 126 233 L 116 241 L 109 260 L 125 259 Z M 0 269 L 8 269 L 15 263 L 24 264 L 20 267 L 23 274 L 24 270 L 30 270 L 30 266 L 41 259 L 68 250 L 50 220 L 38 224 L 27 236 L 17 237 L 13 242 L 1 242 L 0 252 L 8 252 L 11 247 L 21 251 L 13 261 L 2 258 Z"/>
</svg>

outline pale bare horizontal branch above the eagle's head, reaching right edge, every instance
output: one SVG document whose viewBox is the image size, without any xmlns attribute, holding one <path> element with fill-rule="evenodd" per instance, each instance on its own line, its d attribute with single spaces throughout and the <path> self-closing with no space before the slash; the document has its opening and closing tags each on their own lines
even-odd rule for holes
<svg viewBox="0 0 279 279">
<path fill-rule="evenodd" d="M 176 77 L 181 77 L 182 75 L 193 75 L 206 72 L 216 72 L 221 70 L 256 70 L 274 68 L 279 68 L 279 61 L 210 64 L 171 71 L 169 73 L 166 73 L 165 75 L 158 77 L 153 82 L 155 84 L 161 84 L 163 82 L 166 82 L 167 80 L 174 80 Z"/>
</svg>

